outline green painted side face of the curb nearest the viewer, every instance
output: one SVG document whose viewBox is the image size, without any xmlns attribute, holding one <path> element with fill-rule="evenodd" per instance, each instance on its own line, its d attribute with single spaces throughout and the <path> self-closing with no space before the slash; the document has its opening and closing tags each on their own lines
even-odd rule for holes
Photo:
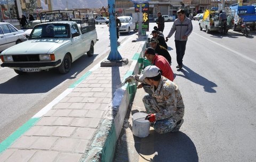
<svg viewBox="0 0 256 162">
<path fill-rule="evenodd" d="M 102 162 L 113 161 L 114 154 L 115 154 L 116 141 L 117 141 L 116 128 L 113 122 L 109 130 L 108 137 L 102 148 L 102 158 L 101 158 Z"/>
</svg>

